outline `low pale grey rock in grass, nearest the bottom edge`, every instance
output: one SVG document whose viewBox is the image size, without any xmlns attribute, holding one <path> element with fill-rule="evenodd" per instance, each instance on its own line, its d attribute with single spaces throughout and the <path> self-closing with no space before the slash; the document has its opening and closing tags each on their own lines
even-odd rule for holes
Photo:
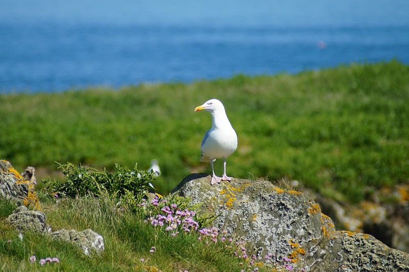
<svg viewBox="0 0 409 272">
<path fill-rule="evenodd" d="M 61 229 L 51 233 L 54 239 L 71 242 L 78 246 L 85 255 L 100 253 L 104 250 L 104 238 L 93 230 L 84 231 Z"/>
</svg>

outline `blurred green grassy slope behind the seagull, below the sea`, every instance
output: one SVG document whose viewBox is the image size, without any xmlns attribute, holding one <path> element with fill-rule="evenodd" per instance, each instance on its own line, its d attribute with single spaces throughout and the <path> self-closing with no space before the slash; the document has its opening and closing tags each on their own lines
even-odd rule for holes
<svg viewBox="0 0 409 272">
<path fill-rule="evenodd" d="M 167 194 L 191 172 L 211 172 L 199 162 L 211 116 L 193 110 L 213 97 L 239 139 L 227 160 L 230 176 L 287 176 L 350 201 L 368 188 L 409 182 L 409 66 L 395 60 L 297 75 L 3 94 L 0 158 L 21 171 L 53 171 L 54 161 L 147 169 L 156 158 L 162 176 L 154 185 Z M 220 160 L 215 170 L 221 175 Z"/>
</svg>

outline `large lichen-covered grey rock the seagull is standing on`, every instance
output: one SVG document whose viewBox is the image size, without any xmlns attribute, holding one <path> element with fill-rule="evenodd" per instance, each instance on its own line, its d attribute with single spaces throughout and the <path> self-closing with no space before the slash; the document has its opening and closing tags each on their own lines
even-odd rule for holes
<svg viewBox="0 0 409 272">
<path fill-rule="evenodd" d="M 406 253 L 371 235 L 336 232 L 331 218 L 304 193 L 262 180 L 214 186 L 210 180 L 207 174 L 189 175 L 172 193 L 220 214 L 215 227 L 243 237 L 259 258 L 268 253 L 277 261 L 289 257 L 306 271 L 409 271 Z"/>
</svg>

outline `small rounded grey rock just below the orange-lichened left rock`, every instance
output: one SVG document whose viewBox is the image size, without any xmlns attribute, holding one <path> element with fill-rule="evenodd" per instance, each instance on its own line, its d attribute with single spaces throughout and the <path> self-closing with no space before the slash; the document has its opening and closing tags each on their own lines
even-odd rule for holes
<svg viewBox="0 0 409 272">
<path fill-rule="evenodd" d="M 46 214 L 31 211 L 26 206 L 20 206 L 7 217 L 6 222 L 20 232 L 49 233 L 51 227 L 46 224 Z"/>
</svg>

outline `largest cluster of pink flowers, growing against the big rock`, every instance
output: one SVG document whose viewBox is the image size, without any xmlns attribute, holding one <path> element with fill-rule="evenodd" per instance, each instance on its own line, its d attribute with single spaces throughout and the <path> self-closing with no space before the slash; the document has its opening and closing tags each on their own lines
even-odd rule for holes
<svg viewBox="0 0 409 272">
<path fill-rule="evenodd" d="M 163 203 L 167 203 L 166 200 L 163 200 Z M 153 200 L 150 201 L 152 206 L 159 206 L 159 198 L 155 196 Z M 138 206 L 145 206 L 146 201 L 143 199 L 142 203 Z M 155 216 L 151 216 L 148 218 L 150 224 L 154 227 L 156 226 L 166 226 L 166 231 L 171 232 L 170 235 L 176 236 L 179 232 L 177 231 L 177 227 L 181 226 L 184 232 L 190 232 L 191 230 L 197 230 L 199 227 L 198 222 L 193 219 L 195 216 L 194 211 L 189 211 L 188 209 L 181 210 L 177 207 L 176 204 L 171 204 L 170 206 L 164 206 L 161 209 L 162 212 Z"/>
</svg>

